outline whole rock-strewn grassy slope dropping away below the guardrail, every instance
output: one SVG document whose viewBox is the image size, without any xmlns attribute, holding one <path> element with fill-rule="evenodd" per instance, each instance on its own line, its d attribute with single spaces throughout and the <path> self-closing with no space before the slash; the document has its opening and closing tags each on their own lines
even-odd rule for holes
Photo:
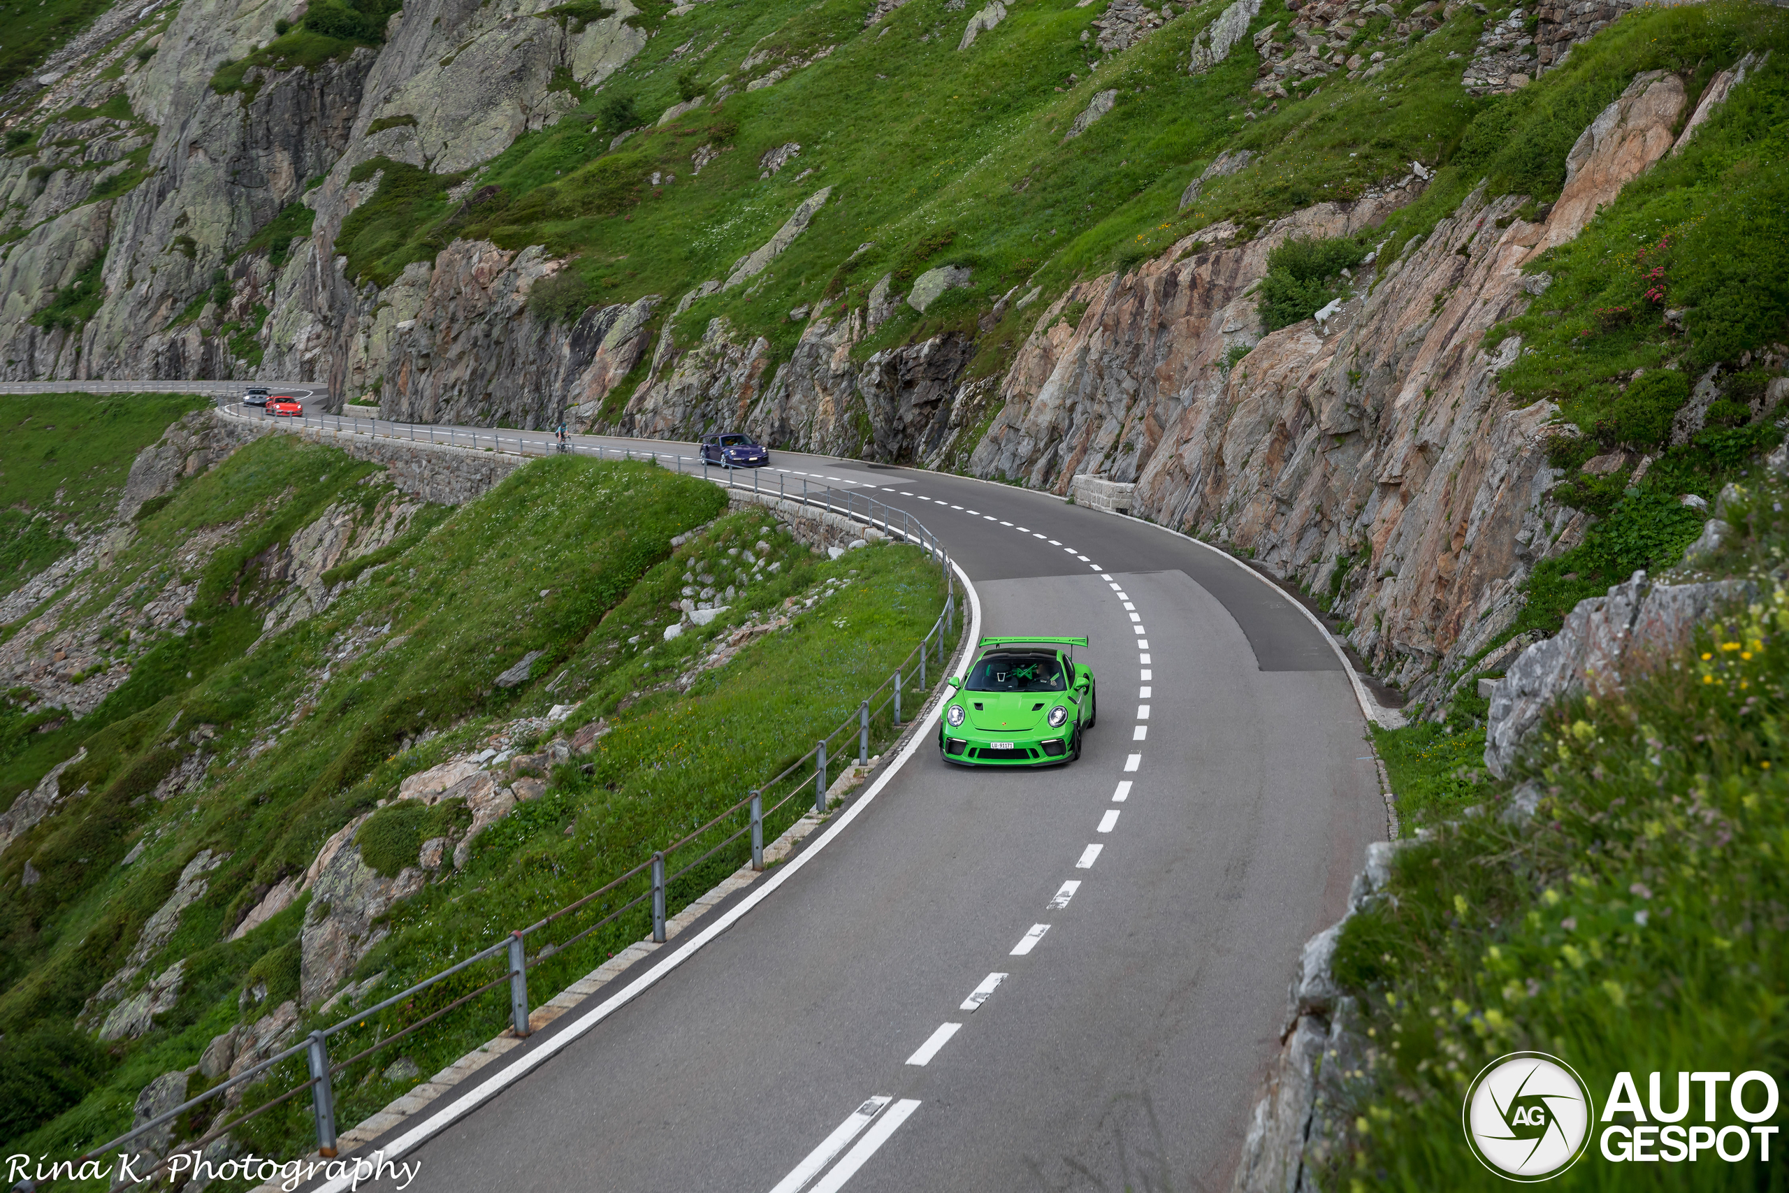
<svg viewBox="0 0 1789 1193">
<path fill-rule="evenodd" d="M 327 447 L 284 438 L 245 447 L 145 520 L 143 540 L 122 562 L 120 585 L 134 576 L 156 580 L 154 569 L 168 556 L 168 537 L 182 528 L 240 522 L 238 546 L 208 569 L 199 601 L 204 605 L 206 588 L 227 590 L 243 562 L 281 533 L 276 522 L 290 533 L 331 499 L 376 495 L 356 485 L 365 470 Z M 284 499 L 270 501 L 268 488 Z M 494 921 L 531 919 L 564 901 L 567 891 L 598 885 L 605 871 L 632 866 L 642 841 L 669 839 L 682 832 L 676 825 L 737 798 L 739 792 L 694 783 L 687 771 L 676 771 L 678 782 L 658 778 L 655 766 L 678 739 L 699 733 L 733 758 L 741 773 L 780 766 L 821 724 L 830 728 L 846 715 L 855 694 L 869 687 L 869 676 L 893 669 L 936 617 L 941 601 L 936 571 L 916 554 L 891 547 L 823 563 L 785 535 L 771 533 L 780 571 L 746 585 L 733 612 L 712 628 L 664 644 L 658 630 L 674 617 L 667 605 L 683 583 L 687 560 L 703 554 L 707 567 L 721 574 L 716 562 L 728 558 L 728 546 L 762 537 L 759 517 L 723 519 L 676 560 L 662 562 L 673 533 L 710 519 L 721 504 L 719 490 L 648 465 L 583 460 L 531 465 L 479 503 L 453 512 L 433 533 L 388 553 L 392 558 L 367 572 L 327 613 L 247 658 L 242 635 L 220 630 L 218 637 L 234 646 L 209 673 L 161 683 L 159 699 L 148 705 L 140 699 L 132 715 L 114 717 L 97 733 L 82 723 L 89 757 L 66 773 L 64 789 L 86 783 L 89 794 L 66 803 L 57 817 L 9 850 L 9 873 L 0 878 L 16 884 L 11 871 L 25 857 L 45 873 L 27 898 L 0 910 L 9 986 L 0 994 L 0 1020 L 7 1023 L 7 1041 L 18 1041 L 18 1048 L 0 1050 L 0 1086 L 41 1089 L 50 1068 L 86 1073 L 16 1123 L 29 1146 L 79 1150 L 82 1141 L 127 1121 L 136 1089 L 168 1068 L 190 1064 L 211 1036 L 236 1021 L 236 991 L 245 982 L 267 980 L 279 996 L 290 996 L 297 980 L 292 941 L 302 907 L 243 941 L 220 943 L 222 937 L 252 905 L 258 884 L 302 869 L 329 832 L 370 808 L 403 774 L 479 740 L 496 721 L 540 714 L 558 699 L 590 694 L 583 719 L 633 698 L 615 733 L 605 739 L 612 746 L 599 755 L 603 767 L 596 778 L 576 767 L 562 773 L 547 798 L 526 805 L 483 839 L 472 873 L 454 875 L 419 900 L 415 914 L 395 918 L 399 935 L 367 966 L 395 966 L 408 975 L 483 943 Z M 301 508 L 302 517 L 281 513 Z M 705 676 L 691 699 L 653 690 L 680 674 L 692 655 L 744 612 L 776 605 L 821 576 L 853 578 L 853 569 L 862 572 L 857 580 L 871 583 L 853 583 L 796 630 L 750 647 L 748 660 L 764 660 L 755 669 L 733 662 Z M 725 574 L 721 583 L 728 583 Z M 95 597 L 102 599 L 104 594 Z M 220 622 L 229 619 L 220 610 L 216 615 Z M 259 615 L 247 612 L 256 631 Z M 374 646 L 385 640 L 388 649 L 335 658 L 345 637 L 386 622 L 390 637 L 374 639 Z M 630 637 L 640 640 L 630 644 Z M 644 647 L 653 642 L 658 646 L 640 665 Z M 526 649 L 547 655 L 535 669 L 537 683 L 517 692 L 492 689 L 492 676 Z M 326 665 L 333 674 L 322 681 Z M 571 674 L 547 694 L 546 676 L 562 669 Z M 825 685 L 803 685 L 821 676 Z M 767 706 L 780 715 L 764 719 Z M 179 730 L 170 733 L 177 714 Z M 156 801 L 132 807 L 141 791 L 190 753 L 191 742 L 181 732 L 195 723 L 218 728 L 209 789 L 165 807 Z M 422 744 L 403 749 L 410 739 Z M 256 740 L 274 746 L 250 760 L 247 746 Z M 635 751 L 651 758 L 642 762 Z M 708 760 L 714 757 L 705 753 Z M 642 778 L 648 773 L 653 780 Z M 771 828 L 798 810 L 794 801 Z M 564 833 L 567 823 L 580 825 L 578 837 Z M 150 850 L 132 867 L 120 869 L 118 857 L 138 837 L 150 839 Z M 143 918 L 199 848 L 229 851 L 229 862 L 150 964 L 156 971 L 175 957 L 190 959 L 181 1003 L 150 1036 L 109 1052 L 59 1036 L 57 1025 L 114 969 Z M 689 875 L 673 894 L 692 898 L 714 876 L 708 871 L 737 864 L 735 853 Z M 513 875 L 530 882 L 510 882 L 506 876 Z M 487 887 L 487 878 L 503 880 Z M 512 907 L 515 900 L 521 903 Z M 538 971 L 540 987 L 581 975 L 605 948 L 637 935 L 635 921 L 592 935 Z M 447 1057 L 488 1036 L 494 1028 L 487 1020 L 483 1009 L 469 1007 L 419 1039 L 413 1055 L 429 1062 Z M 347 1120 L 376 1109 L 388 1093 L 374 1084 L 343 1095 Z M 47 1121 L 52 1114 L 54 1121 Z M 274 1114 L 261 1130 L 276 1139 L 299 1125 Z"/>
</svg>

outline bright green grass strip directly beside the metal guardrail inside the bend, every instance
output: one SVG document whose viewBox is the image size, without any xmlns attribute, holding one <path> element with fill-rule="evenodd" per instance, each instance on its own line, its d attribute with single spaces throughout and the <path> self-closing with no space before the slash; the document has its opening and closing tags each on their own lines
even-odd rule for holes
<svg viewBox="0 0 1789 1193">
<path fill-rule="evenodd" d="M 676 558 L 640 580 L 571 662 L 576 674 L 596 660 L 615 658 L 612 665 L 596 665 L 603 680 L 578 719 L 594 715 L 596 708 L 612 710 L 624 694 L 639 690 L 640 683 L 678 674 L 703 642 L 691 642 L 692 635 L 685 635 L 669 647 L 655 647 L 644 665 L 635 667 L 637 651 L 628 651 L 626 637 L 639 628 L 637 617 L 662 608 L 666 592 L 674 594 L 692 547 L 701 551 L 705 544 L 755 542 L 760 526 L 753 513 L 723 519 L 701 540 L 680 549 Z M 878 547 L 837 562 L 805 562 L 805 551 L 789 553 L 787 538 L 776 533 L 769 538 L 776 544 L 775 553 L 794 565 L 785 580 L 764 585 L 753 599 L 735 606 L 735 613 L 746 606 L 767 608 L 784 594 L 801 592 L 825 580 L 844 580 L 846 585 L 803 613 L 794 628 L 773 633 L 728 665 L 707 673 L 689 696 L 660 690 L 612 715 L 614 728 L 590 758 L 590 774 L 576 766 L 558 767 L 553 787 L 542 800 L 521 807 L 481 839 L 465 875 L 431 885 L 392 914 L 392 937 L 360 966 L 363 975 L 388 975 L 367 1002 L 490 944 L 510 926 L 533 923 L 603 885 L 642 862 L 651 850 L 669 844 L 744 798 L 753 783 L 782 771 L 803 749 L 812 748 L 814 739 L 850 717 L 857 699 L 887 678 L 943 608 L 937 569 L 918 551 Z M 621 656 L 628 658 L 623 662 Z M 642 678 L 632 678 L 633 674 Z M 542 703 L 549 703 L 549 698 Z M 871 748 L 880 749 L 891 737 L 878 719 Z M 855 735 L 834 739 L 832 773 L 852 753 L 853 739 Z M 725 778 L 716 782 L 717 774 Z M 766 808 L 789 792 L 794 798 L 780 812 L 766 816 L 766 841 L 812 807 L 812 771 L 767 791 Z M 674 875 L 744 823 L 739 816 L 710 830 L 696 844 L 671 855 L 667 869 Z M 673 880 L 669 910 L 674 914 L 748 857 L 748 844 L 739 841 Z M 646 889 L 644 876 L 624 884 L 587 912 L 556 925 L 546 939 L 565 941 Z M 537 1003 L 544 1002 L 649 928 L 648 909 L 633 909 L 531 969 L 530 996 Z M 538 937 L 533 939 L 530 953 L 540 943 Z M 467 971 L 463 978 L 442 984 L 413 1005 L 386 1014 L 385 1023 L 369 1021 L 365 1028 L 354 1028 L 342 1048 L 358 1050 L 381 1034 L 444 1007 L 494 975 L 492 966 Z M 386 1082 L 372 1073 L 392 1064 L 397 1055 L 411 1057 L 424 1075 L 437 1071 L 501 1028 L 506 1000 L 503 989 L 485 994 L 422 1028 L 390 1053 L 356 1066 L 347 1080 L 338 1082 L 338 1089 L 352 1089 L 343 1095 L 340 1113 L 345 1121 L 358 1121 L 377 1111 L 413 1084 Z M 281 1082 L 295 1079 L 297 1070 L 281 1073 L 270 1089 L 283 1089 Z M 263 1150 L 283 1154 L 302 1146 L 309 1132 L 306 1107 L 295 1105 L 268 1114 L 254 1138 Z"/>
</svg>

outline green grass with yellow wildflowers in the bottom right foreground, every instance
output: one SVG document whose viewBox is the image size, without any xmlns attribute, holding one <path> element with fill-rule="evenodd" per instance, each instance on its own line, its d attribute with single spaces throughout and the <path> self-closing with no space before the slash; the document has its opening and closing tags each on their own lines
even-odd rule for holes
<svg viewBox="0 0 1789 1193">
<path fill-rule="evenodd" d="M 1533 821 L 1454 817 L 1397 855 L 1390 898 L 1351 918 L 1336 950 L 1370 1052 L 1324 1188 L 1505 1188 L 1467 1150 L 1460 1100 L 1506 1052 L 1564 1057 L 1599 1105 L 1617 1071 L 1644 1098 L 1651 1071 L 1671 1089 L 1678 1071 L 1789 1066 L 1785 717 L 1778 588 L 1621 699 L 1549 715 L 1517 780 L 1485 800 L 1496 810 L 1513 782 L 1537 782 Z M 1723 1087 L 1717 1127 L 1739 1123 L 1726 1102 Z M 1685 1125 L 1701 1120 L 1698 1098 Z M 1556 1184 L 1778 1189 L 1775 1159 L 1635 1173 L 1592 1143 Z"/>
</svg>

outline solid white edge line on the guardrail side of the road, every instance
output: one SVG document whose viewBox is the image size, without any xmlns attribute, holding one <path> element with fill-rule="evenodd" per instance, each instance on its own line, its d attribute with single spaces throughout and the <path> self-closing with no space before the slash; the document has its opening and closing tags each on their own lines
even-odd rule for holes
<svg viewBox="0 0 1789 1193">
<path fill-rule="evenodd" d="M 962 581 L 962 594 L 970 601 L 970 624 L 964 628 L 966 633 L 962 639 L 966 644 L 970 644 L 970 651 L 964 653 L 964 658 L 968 658 L 973 653 L 973 642 L 980 639 L 982 631 L 982 599 L 980 596 L 977 596 L 975 585 L 970 581 L 968 572 L 962 571 L 962 565 L 952 560 L 950 567 L 952 571 L 957 572 L 957 580 Z M 903 766 L 907 766 L 907 760 L 912 758 L 916 753 L 920 753 L 920 746 L 930 742 L 930 728 L 937 723 L 939 717 L 945 715 L 946 703 L 948 701 L 939 699 L 932 706 L 932 712 L 927 714 L 925 721 L 920 724 L 920 730 L 907 739 L 907 744 L 902 748 L 900 755 L 894 757 L 894 762 L 891 762 L 889 767 L 877 776 L 877 782 L 873 782 L 864 791 L 864 794 L 857 798 L 857 803 L 844 808 L 844 812 L 841 812 L 832 825 L 828 825 L 818 837 L 814 837 L 814 844 L 810 844 L 809 848 L 801 850 L 793 859 L 784 862 L 776 869 L 776 873 L 769 875 L 769 878 L 764 878 L 757 885 L 753 885 L 748 891 L 746 898 L 739 900 L 739 903 L 735 903 L 726 914 L 723 914 L 719 919 L 716 919 L 712 925 L 698 932 L 683 944 L 680 944 L 676 952 L 673 952 L 666 960 L 658 962 L 640 977 L 633 978 L 632 982 L 628 982 L 624 989 L 610 994 L 601 1003 L 585 1011 L 583 1014 L 576 1018 L 567 1016 L 571 1018 L 571 1021 L 565 1023 L 565 1027 L 560 1028 L 551 1039 L 544 1041 L 535 1048 L 524 1050 L 522 1055 L 517 1057 L 512 1064 L 504 1066 L 503 1071 L 492 1073 L 490 1077 L 478 1082 L 476 1086 L 467 1089 L 463 1095 L 460 1095 L 442 1109 L 424 1118 L 410 1130 L 392 1139 L 385 1148 L 381 1148 L 385 1157 L 397 1159 L 401 1155 L 408 1155 L 411 1148 L 429 1141 L 447 1127 L 454 1125 L 462 1118 L 476 1111 L 479 1105 L 503 1093 L 508 1086 L 515 1084 L 517 1080 L 531 1073 L 544 1061 L 558 1055 L 572 1041 L 581 1039 L 585 1032 L 589 1032 L 592 1027 L 612 1016 L 615 1011 L 621 1011 L 624 1005 L 639 998 L 648 987 L 655 986 L 667 973 L 671 973 L 685 960 L 694 957 L 703 944 L 707 944 L 714 937 L 732 928 L 746 912 L 762 903 L 771 894 L 771 891 L 787 882 L 789 875 L 800 871 L 801 866 L 805 866 L 810 857 L 814 857 L 823 848 L 832 844 L 832 841 L 841 832 L 844 832 L 844 828 L 853 819 L 857 819 L 857 816 L 864 808 L 869 807 L 869 803 L 882 792 L 882 789 L 887 787 L 889 780 L 894 778 Z M 912 1105 L 918 1105 L 918 1102 L 914 1102 Z M 905 1118 L 905 1114 L 902 1118 Z M 900 1123 L 896 1123 L 896 1127 Z M 324 1184 L 317 1186 L 317 1193 L 342 1193 L 342 1189 L 349 1188 L 351 1179 L 352 1173 L 345 1177 L 336 1177 L 333 1180 L 326 1180 Z"/>
</svg>

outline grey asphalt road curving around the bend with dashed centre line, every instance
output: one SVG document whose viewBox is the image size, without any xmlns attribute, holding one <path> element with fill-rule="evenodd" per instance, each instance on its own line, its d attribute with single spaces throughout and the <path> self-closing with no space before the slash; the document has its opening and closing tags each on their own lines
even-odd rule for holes
<svg viewBox="0 0 1789 1193">
<path fill-rule="evenodd" d="M 982 633 L 1086 633 L 1098 726 L 1045 771 L 921 748 L 785 889 L 413 1150 L 411 1188 L 1227 1188 L 1299 946 L 1385 835 L 1335 651 L 1288 596 L 1157 528 L 773 458 L 921 519 Z"/>
</svg>

